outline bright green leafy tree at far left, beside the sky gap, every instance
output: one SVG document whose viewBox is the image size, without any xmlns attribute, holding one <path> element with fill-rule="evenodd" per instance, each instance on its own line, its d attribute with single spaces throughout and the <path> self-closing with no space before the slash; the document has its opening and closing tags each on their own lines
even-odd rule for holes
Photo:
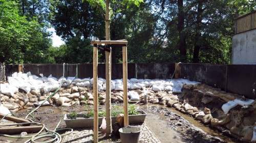
<svg viewBox="0 0 256 143">
<path fill-rule="evenodd" d="M 22 16 L 15 1 L 0 0 L 0 62 L 40 63 L 51 40 L 37 17 Z"/>
</svg>

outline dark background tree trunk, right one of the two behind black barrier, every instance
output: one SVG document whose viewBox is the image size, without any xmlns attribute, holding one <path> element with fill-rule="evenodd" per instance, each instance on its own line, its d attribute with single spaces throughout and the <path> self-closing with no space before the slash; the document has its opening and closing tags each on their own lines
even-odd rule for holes
<svg viewBox="0 0 256 143">
<path fill-rule="evenodd" d="M 199 52 L 201 47 L 201 23 L 202 23 L 202 14 L 203 14 L 203 0 L 198 1 L 197 7 L 197 21 L 196 21 L 196 36 L 194 43 L 194 53 L 193 53 L 193 63 L 199 62 Z"/>
</svg>

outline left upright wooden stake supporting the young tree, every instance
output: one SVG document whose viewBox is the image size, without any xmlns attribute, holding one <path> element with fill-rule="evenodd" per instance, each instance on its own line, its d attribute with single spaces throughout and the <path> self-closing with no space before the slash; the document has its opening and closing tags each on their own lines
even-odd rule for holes
<svg viewBox="0 0 256 143">
<path fill-rule="evenodd" d="M 98 142 L 98 48 L 93 47 L 93 101 L 94 101 L 94 125 L 93 138 L 94 142 Z"/>
</svg>

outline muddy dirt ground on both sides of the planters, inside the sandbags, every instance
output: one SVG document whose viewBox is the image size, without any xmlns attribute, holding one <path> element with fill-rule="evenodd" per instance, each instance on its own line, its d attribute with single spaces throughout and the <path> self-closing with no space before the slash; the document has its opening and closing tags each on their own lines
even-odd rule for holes
<svg viewBox="0 0 256 143">
<path fill-rule="evenodd" d="M 234 138 L 222 135 L 216 130 L 212 130 L 192 117 L 161 105 L 148 104 L 139 106 L 148 115 L 146 117 L 147 126 L 155 133 L 162 143 L 176 142 L 241 142 Z M 33 114 L 34 121 L 43 123 L 49 129 L 54 129 L 65 113 L 71 111 L 85 111 L 92 106 L 72 106 L 72 107 L 40 107 Z M 99 108 L 103 108 L 100 106 Z M 29 110 L 22 110 L 15 113 L 16 117 L 25 117 Z M 61 122 L 59 127 L 65 127 L 65 122 Z M 0 136 L 0 142 L 24 142 L 27 139 L 14 139 Z"/>
</svg>

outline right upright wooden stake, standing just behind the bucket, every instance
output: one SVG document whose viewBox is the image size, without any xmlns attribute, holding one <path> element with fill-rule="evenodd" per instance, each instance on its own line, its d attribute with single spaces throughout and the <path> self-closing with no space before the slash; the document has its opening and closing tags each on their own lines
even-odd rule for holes
<svg viewBox="0 0 256 143">
<path fill-rule="evenodd" d="M 123 111 L 124 127 L 129 125 L 128 119 L 128 101 L 127 101 L 127 47 L 123 47 Z"/>
</svg>

